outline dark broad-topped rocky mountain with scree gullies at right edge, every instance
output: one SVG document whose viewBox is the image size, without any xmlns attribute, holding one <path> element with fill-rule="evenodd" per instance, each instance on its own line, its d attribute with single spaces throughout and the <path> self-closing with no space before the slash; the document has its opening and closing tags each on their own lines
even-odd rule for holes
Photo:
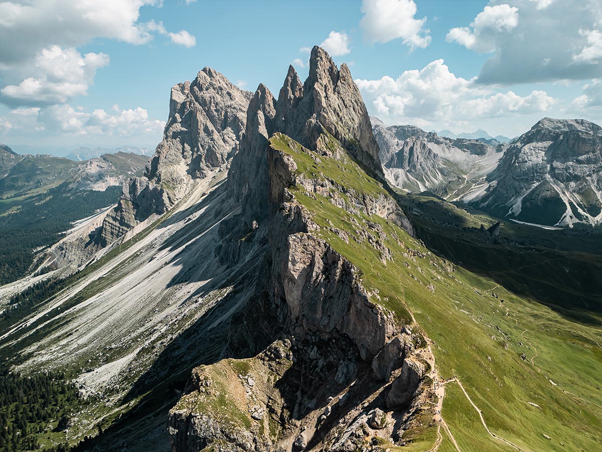
<svg viewBox="0 0 602 452">
<path fill-rule="evenodd" d="M 474 202 L 544 225 L 602 221 L 602 128 L 544 118 L 514 140 Z"/>
</svg>

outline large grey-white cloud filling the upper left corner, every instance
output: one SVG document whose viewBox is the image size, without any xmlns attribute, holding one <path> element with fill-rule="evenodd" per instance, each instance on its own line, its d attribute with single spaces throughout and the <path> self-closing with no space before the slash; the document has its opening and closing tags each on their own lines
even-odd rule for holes
<svg viewBox="0 0 602 452">
<path fill-rule="evenodd" d="M 172 33 L 160 22 L 140 22 L 140 8 L 162 0 L 0 0 L 0 90 L 8 105 L 60 104 L 87 93 L 96 69 L 108 64 L 101 52 L 79 54 L 96 38 L 140 45 L 156 34 L 193 46 L 185 30 Z"/>
</svg>

